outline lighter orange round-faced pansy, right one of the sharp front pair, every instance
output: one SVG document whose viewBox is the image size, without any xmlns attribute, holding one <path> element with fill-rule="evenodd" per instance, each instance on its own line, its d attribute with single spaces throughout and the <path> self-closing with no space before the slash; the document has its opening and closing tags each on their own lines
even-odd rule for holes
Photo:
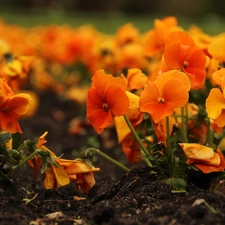
<svg viewBox="0 0 225 225">
<path fill-rule="evenodd" d="M 140 96 L 140 110 L 151 114 L 155 123 L 172 115 L 175 108 L 183 107 L 188 102 L 189 90 L 183 81 L 187 79 L 186 75 L 180 73 L 181 79 L 178 80 L 176 77 L 173 78 L 173 74 L 177 73 L 180 72 L 170 71 L 171 76 L 168 76 L 168 73 L 160 74 L 159 80 L 148 82 Z"/>
</svg>

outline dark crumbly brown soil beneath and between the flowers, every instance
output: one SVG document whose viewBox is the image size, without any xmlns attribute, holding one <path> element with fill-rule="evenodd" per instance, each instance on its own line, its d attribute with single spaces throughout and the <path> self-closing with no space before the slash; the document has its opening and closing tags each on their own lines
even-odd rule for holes
<svg viewBox="0 0 225 225">
<path fill-rule="evenodd" d="M 27 165 L 14 174 L 13 183 L 0 184 L 0 224 L 225 224 L 225 194 L 206 187 L 204 176 L 200 175 L 195 184 L 190 182 L 186 193 L 171 193 L 150 168 L 127 162 L 113 128 L 97 136 L 83 120 L 85 132 L 71 135 L 69 121 L 84 115 L 82 107 L 53 94 L 41 96 L 40 102 L 37 115 L 20 122 L 24 139 L 39 137 L 48 130 L 46 146 L 57 155 L 64 153 L 64 158 L 72 159 L 94 138 L 102 151 L 132 170 L 125 173 L 96 157 L 94 166 L 101 171 L 95 175 L 96 185 L 84 195 L 76 192 L 73 183 L 45 190 L 41 177 L 35 179 Z M 61 119 L 55 116 L 56 112 L 61 113 Z"/>
</svg>

